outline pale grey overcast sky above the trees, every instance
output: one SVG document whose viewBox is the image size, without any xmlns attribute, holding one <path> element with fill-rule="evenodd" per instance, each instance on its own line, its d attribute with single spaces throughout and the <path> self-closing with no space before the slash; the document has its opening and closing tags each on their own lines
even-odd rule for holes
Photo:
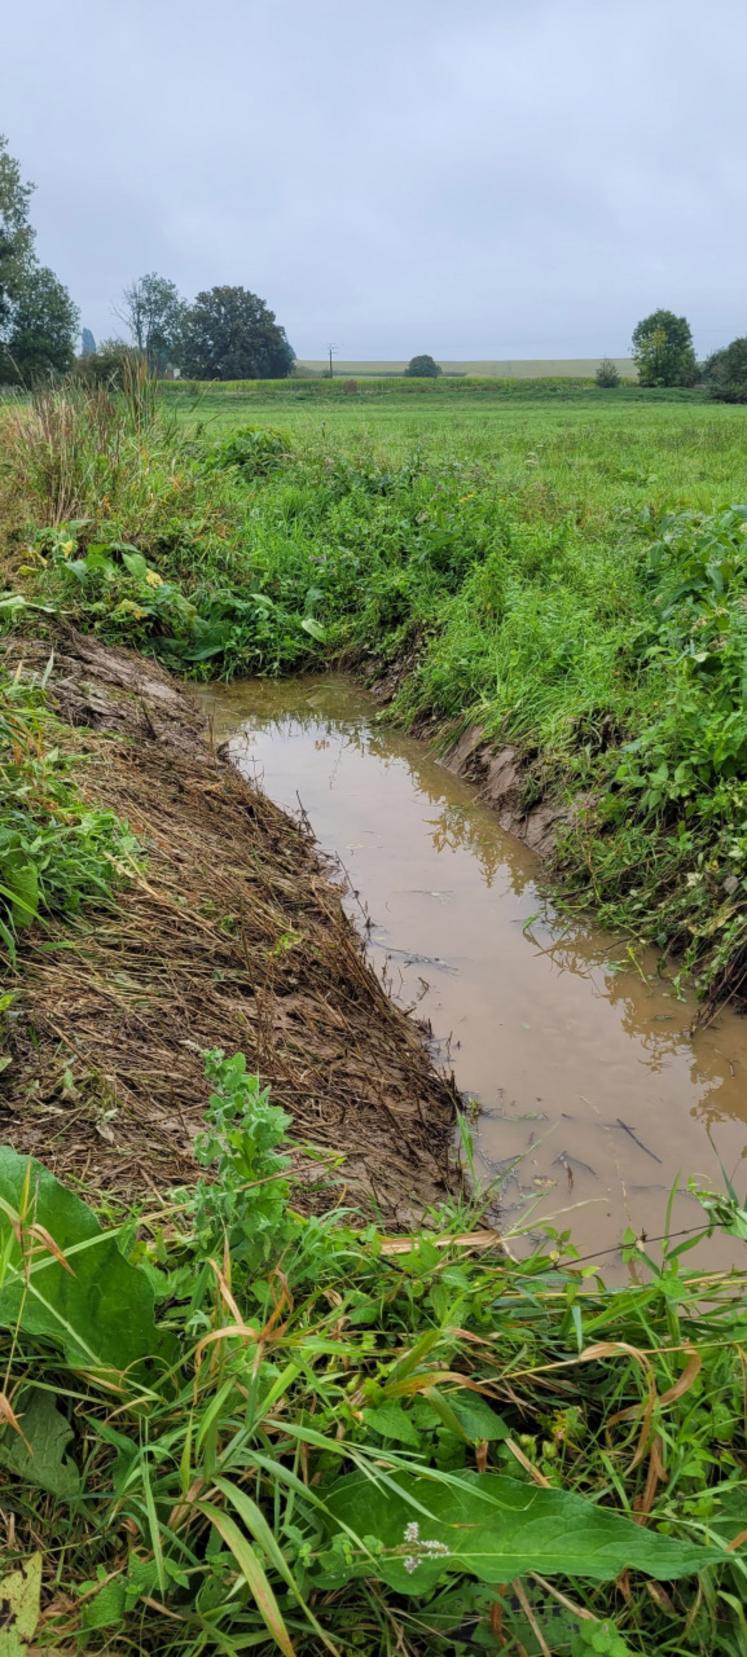
<svg viewBox="0 0 747 1657">
<path fill-rule="evenodd" d="M 0 131 L 96 336 L 147 270 L 300 356 L 747 333 L 745 0 L 5 0 Z"/>
</svg>

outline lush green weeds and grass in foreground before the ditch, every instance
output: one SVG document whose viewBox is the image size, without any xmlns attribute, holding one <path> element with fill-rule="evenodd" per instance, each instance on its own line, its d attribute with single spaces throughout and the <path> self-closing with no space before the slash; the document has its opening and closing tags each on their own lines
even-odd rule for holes
<svg viewBox="0 0 747 1657">
<path fill-rule="evenodd" d="M 744 1279 L 664 1241 L 608 1291 L 563 1238 L 517 1264 L 465 1211 L 414 1238 L 303 1216 L 283 1112 L 240 1054 L 205 1062 L 204 1181 L 118 1231 L 0 1150 L 0 1594 L 27 1584 L 27 1637 L 737 1657 Z"/>
</svg>

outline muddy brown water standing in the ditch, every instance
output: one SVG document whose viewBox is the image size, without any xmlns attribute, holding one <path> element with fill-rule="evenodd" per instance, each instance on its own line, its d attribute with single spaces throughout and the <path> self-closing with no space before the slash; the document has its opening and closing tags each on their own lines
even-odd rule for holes
<svg viewBox="0 0 747 1657">
<path fill-rule="evenodd" d="M 202 703 L 240 771 L 303 807 L 340 858 L 373 961 L 475 1100 L 477 1171 L 500 1180 L 504 1226 L 570 1228 L 586 1254 L 626 1226 L 661 1233 L 677 1176 L 722 1188 L 719 1157 L 742 1188 L 747 1019 L 725 1009 L 691 1034 L 696 1004 L 656 956 L 636 968 L 591 921 L 568 925 L 538 895 L 535 855 L 349 679 L 217 686 Z M 672 1229 L 699 1221 L 681 1191 Z M 740 1263 L 724 1238 L 691 1258 Z"/>
</svg>

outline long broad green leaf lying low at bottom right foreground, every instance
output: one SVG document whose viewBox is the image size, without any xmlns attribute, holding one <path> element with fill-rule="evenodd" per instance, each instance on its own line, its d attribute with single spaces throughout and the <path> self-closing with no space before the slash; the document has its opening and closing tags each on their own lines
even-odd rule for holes
<svg viewBox="0 0 747 1657">
<path fill-rule="evenodd" d="M 429 1592 L 454 1571 L 484 1582 L 510 1582 L 527 1571 L 611 1582 L 631 1568 L 671 1581 L 724 1558 L 719 1548 L 659 1536 L 613 1508 L 499 1473 L 351 1473 L 326 1501 L 340 1528 L 384 1543 L 389 1553 L 376 1559 L 378 1572 L 407 1594 Z M 356 1569 L 371 1576 L 371 1559 Z"/>
</svg>

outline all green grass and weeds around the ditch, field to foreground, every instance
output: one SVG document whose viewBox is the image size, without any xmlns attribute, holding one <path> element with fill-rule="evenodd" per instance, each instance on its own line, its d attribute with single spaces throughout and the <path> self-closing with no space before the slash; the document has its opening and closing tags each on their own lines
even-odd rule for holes
<svg viewBox="0 0 747 1657">
<path fill-rule="evenodd" d="M 518 749 L 527 804 L 571 807 L 568 905 L 739 996 L 742 409 L 321 384 L 0 409 L 13 659 L 73 623 L 202 681 L 386 678 L 389 717 L 432 741 L 479 722 Z M 156 880 L 147 837 L 80 792 L 75 741 L 45 674 L 8 668 L 8 1031 L 38 958 L 86 971 L 86 916 L 124 926 L 128 882 Z M 293 976 L 298 946 L 262 958 Z M 568 1234 L 515 1263 L 467 1196 L 412 1236 L 345 1191 L 305 1213 L 287 1115 L 242 1056 L 204 1064 L 189 1190 L 89 1206 L 0 1152 L 18 1649 L 739 1657 L 744 1274 L 689 1274 L 694 1236 L 629 1236 L 631 1283 L 606 1289 Z M 108 1077 L 86 1087 L 109 1104 Z M 80 1099 L 70 1060 L 55 1109 Z M 699 1200 L 744 1241 L 729 1183 Z"/>
</svg>

